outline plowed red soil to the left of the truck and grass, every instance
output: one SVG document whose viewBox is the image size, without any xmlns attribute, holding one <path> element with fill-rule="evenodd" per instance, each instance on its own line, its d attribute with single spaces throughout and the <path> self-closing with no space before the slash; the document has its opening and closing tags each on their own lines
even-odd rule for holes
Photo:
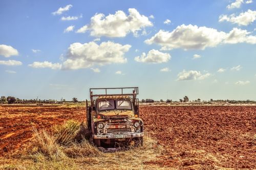
<svg viewBox="0 0 256 170">
<path fill-rule="evenodd" d="M 33 128 L 50 129 L 65 120 L 84 120 L 85 108 L 0 107 L 0 155 L 19 149 L 32 138 Z"/>
</svg>

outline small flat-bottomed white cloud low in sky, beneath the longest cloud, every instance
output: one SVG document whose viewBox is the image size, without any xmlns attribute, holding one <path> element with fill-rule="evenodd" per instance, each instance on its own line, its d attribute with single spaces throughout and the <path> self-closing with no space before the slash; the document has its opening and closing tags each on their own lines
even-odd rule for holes
<svg viewBox="0 0 256 170">
<path fill-rule="evenodd" d="M 200 71 L 194 70 L 183 70 L 178 74 L 178 80 L 204 80 L 208 78 L 210 74 L 207 72 L 206 74 L 202 75 Z"/>
</svg>

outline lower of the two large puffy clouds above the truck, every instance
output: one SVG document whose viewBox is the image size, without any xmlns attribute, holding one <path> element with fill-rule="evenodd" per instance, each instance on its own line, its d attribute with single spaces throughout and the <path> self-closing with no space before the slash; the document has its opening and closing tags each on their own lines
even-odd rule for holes
<svg viewBox="0 0 256 170">
<path fill-rule="evenodd" d="M 63 62 L 63 69 L 88 68 L 93 65 L 105 65 L 112 63 L 125 63 L 124 54 L 129 51 L 131 45 L 121 45 L 111 41 L 102 42 L 99 45 L 94 41 L 81 44 L 73 43 L 68 48 L 67 60 Z"/>
</svg>

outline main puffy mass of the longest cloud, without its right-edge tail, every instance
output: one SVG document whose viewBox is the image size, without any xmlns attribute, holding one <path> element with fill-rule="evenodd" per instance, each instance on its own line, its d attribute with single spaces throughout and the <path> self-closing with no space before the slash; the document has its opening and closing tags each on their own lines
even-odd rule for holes
<svg viewBox="0 0 256 170">
<path fill-rule="evenodd" d="M 218 45 L 225 36 L 224 32 L 207 27 L 192 25 L 178 26 L 172 32 L 160 30 L 145 43 L 157 43 L 162 45 L 161 50 L 172 50 L 173 48 L 201 49 Z"/>
</svg>

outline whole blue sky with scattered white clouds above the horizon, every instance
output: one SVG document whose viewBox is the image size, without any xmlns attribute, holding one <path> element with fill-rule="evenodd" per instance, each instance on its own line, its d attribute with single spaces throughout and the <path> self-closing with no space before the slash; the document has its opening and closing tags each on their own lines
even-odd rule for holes
<svg viewBox="0 0 256 170">
<path fill-rule="evenodd" d="M 256 5 L 225 1 L 1 1 L 0 95 L 256 100 Z"/>
</svg>

